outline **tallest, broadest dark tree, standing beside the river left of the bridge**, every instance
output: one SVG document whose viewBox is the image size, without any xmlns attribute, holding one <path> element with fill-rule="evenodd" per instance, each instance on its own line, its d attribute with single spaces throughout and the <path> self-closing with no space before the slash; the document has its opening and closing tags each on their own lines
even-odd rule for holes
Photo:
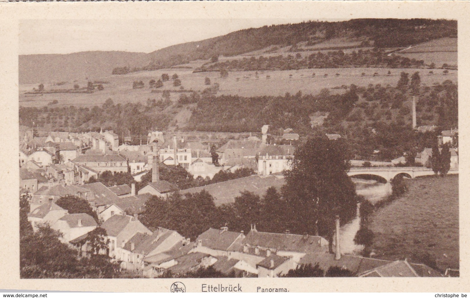
<svg viewBox="0 0 470 298">
<path fill-rule="evenodd" d="M 341 139 L 309 138 L 299 145 L 282 188 L 283 198 L 295 212 L 291 230 L 328 237 L 332 243 L 335 216 L 342 222 L 355 216 L 356 190 L 347 175 L 348 160 Z"/>
</svg>

